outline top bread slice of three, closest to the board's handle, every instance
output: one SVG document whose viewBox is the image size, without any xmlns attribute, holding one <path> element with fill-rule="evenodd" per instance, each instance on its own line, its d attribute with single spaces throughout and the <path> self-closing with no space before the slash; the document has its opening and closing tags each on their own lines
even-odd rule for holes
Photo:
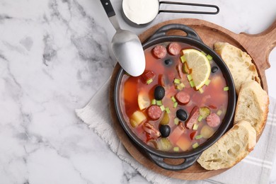
<svg viewBox="0 0 276 184">
<path fill-rule="evenodd" d="M 236 93 L 239 93 L 241 84 L 244 82 L 257 81 L 260 83 L 256 67 L 246 52 L 241 51 L 227 42 L 216 42 L 214 44 L 214 50 L 222 57 L 231 71 Z"/>
</svg>

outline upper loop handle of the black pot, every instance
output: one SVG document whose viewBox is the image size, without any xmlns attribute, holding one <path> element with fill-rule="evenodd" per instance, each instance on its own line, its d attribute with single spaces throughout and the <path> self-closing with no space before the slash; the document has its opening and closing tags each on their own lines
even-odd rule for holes
<svg viewBox="0 0 276 184">
<path fill-rule="evenodd" d="M 154 40 L 156 38 L 166 36 L 166 33 L 169 30 L 183 30 L 185 33 L 187 33 L 187 35 L 185 37 L 192 38 L 192 39 L 195 39 L 197 41 L 202 42 L 200 36 L 197 35 L 197 33 L 195 32 L 195 30 L 193 30 L 192 28 L 188 27 L 187 25 L 177 24 L 177 23 L 164 25 L 163 27 L 161 27 L 158 30 L 156 30 L 156 32 L 154 33 L 154 35 L 152 35 L 149 38 L 149 40 L 147 40 L 147 41 L 151 41 L 151 40 Z"/>
</svg>

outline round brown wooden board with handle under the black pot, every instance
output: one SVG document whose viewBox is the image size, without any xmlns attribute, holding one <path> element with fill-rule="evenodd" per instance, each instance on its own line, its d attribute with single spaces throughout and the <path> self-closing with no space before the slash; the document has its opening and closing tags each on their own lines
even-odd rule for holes
<svg viewBox="0 0 276 184">
<path fill-rule="evenodd" d="M 147 38 L 153 35 L 153 33 L 158 28 L 170 23 L 180 23 L 190 26 L 198 33 L 198 35 L 200 35 L 200 38 L 202 38 L 203 42 L 205 42 L 205 44 L 209 47 L 213 47 L 214 42 L 229 42 L 231 45 L 235 45 L 236 47 L 239 47 L 241 48 L 241 50 L 244 50 L 245 52 L 250 54 L 253 58 L 253 62 L 258 69 L 258 73 L 262 81 L 262 86 L 265 91 L 268 91 L 268 86 L 265 79 L 265 69 L 268 69 L 270 67 L 270 64 L 268 62 L 268 55 L 276 44 L 276 21 L 270 26 L 270 28 L 268 28 L 268 30 L 265 30 L 263 33 L 260 33 L 258 35 L 246 35 L 244 33 L 232 33 L 231 31 L 226 30 L 219 25 L 215 25 L 207 21 L 192 18 L 182 18 L 154 25 L 153 27 L 149 28 L 149 30 L 146 30 L 144 33 L 142 33 L 142 35 L 139 35 L 140 40 L 144 42 Z M 185 35 L 185 33 L 180 30 L 172 30 L 170 33 L 168 33 L 168 35 Z M 256 43 L 257 41 L 259 42 Z M 265 44 L 262 44 L 260 41 L 265 42 Z M 258 47 L 256 47 L 256 44 L 258 44 Z M 202 168 L 200 164 L 194 163 L 190 168 L 187 168 L 183 171 L 168 171 L 160 168 L 154 162 L 152 162 L 146 156 L 146 154 L 144 154 L 141 149 L 139 149 L 136 144 L 134 144 L 134 142 L 132 142 L 132 140 L 127 137 L 127 134 L 122 129 L 119 120 L 117 120 L 117 115 L 114 109 L 115 105 L 113 92 L 115 79 L 117 77 L 119 69 L 120 65 L 117 64 L 110 81 L 110 111 L 113 118 L 115 132 L 117 132 L 117 135 L 120 138 L 122 144 L 125 146 L 127 151 L 130 152 L 134 159 L 136 159 L 146 168 L 149 168 L 156 173 L 171 178 L 178 178 L 181 180 L 202 180 L 205 178 L 210 178 L 212 176 L 217 176 L 219 173 L 223 173 L 227 170 L 220 169 L 217 171 L 207 171 Z"/>
</svg>

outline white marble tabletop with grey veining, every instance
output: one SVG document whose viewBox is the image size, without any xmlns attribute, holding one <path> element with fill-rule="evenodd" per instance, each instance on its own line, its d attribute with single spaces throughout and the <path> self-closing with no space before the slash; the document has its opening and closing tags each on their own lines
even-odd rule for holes
<svg viewBox="0 0 276 184">
<path fill-rule="evenodd" d="M 195 1 L 194 1 L 195 2 Z M 200 18 L 234 33 L 260 33 L 276 1 L 231 0 L 216 16 L 159 14 L 151 24 Z M 122 0 L 112 1 L 122 28 Z M 115 30 L 97 0 L 0 1 L 0 183 L 147 183 L 74 114 L 113 70 Z M 276 49 L 267 70 L 276 98 Z M 276 182 L 276 162 L 270 183 Z"/>
</svg>

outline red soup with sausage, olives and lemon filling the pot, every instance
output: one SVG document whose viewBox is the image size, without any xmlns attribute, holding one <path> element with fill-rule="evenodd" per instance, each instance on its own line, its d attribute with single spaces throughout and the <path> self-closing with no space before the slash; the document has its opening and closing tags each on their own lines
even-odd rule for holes
<svg viewBox="0 0 276 184">
<path fill-rule="evenodd" d="M 144 74 L 123 74 L 120 81 L 123 119 L 154 149 L 197 149 L 227 112 L 229 87 L 222 71 L 208 53 L 182 42 L 163 42 L 144 52 Z"/>
</svg>

